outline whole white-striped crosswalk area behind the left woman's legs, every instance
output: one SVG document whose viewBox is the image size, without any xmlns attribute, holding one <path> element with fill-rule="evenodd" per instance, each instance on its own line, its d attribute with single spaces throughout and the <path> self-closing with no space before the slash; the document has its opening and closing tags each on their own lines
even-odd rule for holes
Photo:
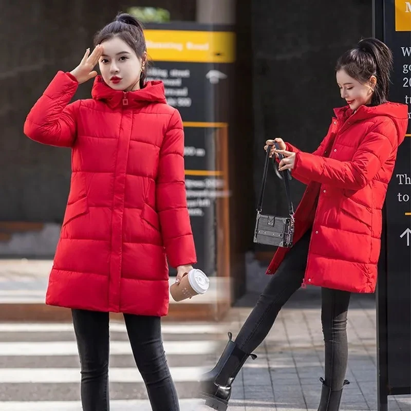
<svg viewBox="0 0 411 411">
<path fill-rule="evenodd" d="M 195 399 L 197 381 L 210 369 L 223 326 L 162 324 L 164 351 L 181 411 L 204 409 Z M 108 375 L 111 396 L 116 399 L 110 401 L 110 409 L 150 411 L 124 322 L 111 320 L 110 332 Z M 81 372 L 72 323 L 0 323 L 0 367 L 0 411 L 81 411 Z"/>
</svg>

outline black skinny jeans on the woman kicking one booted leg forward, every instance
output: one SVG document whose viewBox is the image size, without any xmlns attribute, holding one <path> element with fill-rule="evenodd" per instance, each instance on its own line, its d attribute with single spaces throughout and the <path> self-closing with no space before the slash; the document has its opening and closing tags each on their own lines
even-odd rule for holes
<svg viewBox="0 0 411 411">
<path fill-rule="evenodd" d="M 251 353 L 267 337 L 276 316 L 301 287 L 307 265 L 309 230 L 288 252 L 272 275 L 257 304 L 239 331 L 235 342 Z M 325 343 L 325 381 L 333 390 L 343 386 L 348 361 L 347 311 L 351 293 L 322 288 L 321 321 Z M 308 335 L 307 335 L 308 338 Z"/>
</svg>

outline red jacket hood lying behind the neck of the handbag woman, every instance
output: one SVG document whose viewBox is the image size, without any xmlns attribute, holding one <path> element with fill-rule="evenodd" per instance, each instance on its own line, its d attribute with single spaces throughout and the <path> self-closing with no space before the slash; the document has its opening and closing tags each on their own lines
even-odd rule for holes
<svg viewBox="0 0 411 411">
<path fill-rule="evenodd" d="M 348 117 L 352 116 L 353 121 L 366 120 L 377 116 L 389 117 L 394 121 L 397 128 L 398 145 L 405 138 L 408 128 L 408 106 L 401 103 L 383 103 L 377 106 L 360 106 L 354 113 L 347 105 L 334 109 L 334 113 L 340 121 L 345 122 Z"/>
</svg>

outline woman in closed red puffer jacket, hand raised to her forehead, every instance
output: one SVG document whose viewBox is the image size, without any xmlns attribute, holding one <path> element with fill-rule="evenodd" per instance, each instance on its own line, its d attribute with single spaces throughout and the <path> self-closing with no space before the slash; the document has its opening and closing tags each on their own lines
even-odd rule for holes
<svg viewBox="0 0 411 411">
<path fill-rule="evenodd" d="M 124 315 L 152 409 L 178 411 L 160 318 L 169 309 L 166 257 L 177 281 L 196 263 L 182 121 L 163 83 L 145 81 L 139 21 L 119 14 L 95 46 L 74 70 L 56 74 L 24 124 L 32 140 L 72 150 L 46 304 L 72 310 L 84 411 L 109 409 L 109 312 Z M 92 78 L 92 99 L 69 104 Z"/>
</svg>

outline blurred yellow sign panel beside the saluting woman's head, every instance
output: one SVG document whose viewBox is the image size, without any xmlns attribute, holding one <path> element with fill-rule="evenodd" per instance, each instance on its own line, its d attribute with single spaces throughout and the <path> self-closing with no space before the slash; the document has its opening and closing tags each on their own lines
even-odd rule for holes
<svg viewBox="0 0 411 411">
<path fill-rule="evenodd" d="M 233 63 L 235 33 L 230 31 L 144 30 L 154 61 Z"/>
</svg>

